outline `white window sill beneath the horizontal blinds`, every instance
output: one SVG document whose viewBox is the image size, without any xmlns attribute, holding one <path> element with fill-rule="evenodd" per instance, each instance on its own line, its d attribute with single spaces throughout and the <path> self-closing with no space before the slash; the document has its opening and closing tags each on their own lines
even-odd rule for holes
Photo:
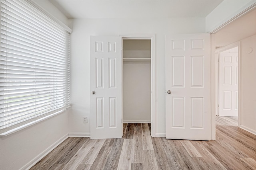
<svg viewBox="0 0 256 170">
<path fill-rule="evenodd" d="M 57 112 L 55 112 L 55 113 L 52 113 L 52 114 L 50 114 L 50 115 L 47 115 L 47 116 L 42 117 L 42 118 L 40 118 L 40 119 L 37 119 L 37 120 L 32 121 L 32 122 L 30 122 L 30 123 L 27 123 L 27 124 L 25 124 L 25 125 L 21 125 L 21 126 L 19 126 L 19 127 L 16 127 L 16 128 L 14 128 L 14 129 L 11 129 L 10 131 L 1 133 L 1 134 L 0 134 L 0 137 L 6 137 L 6 136 L 8 136 L 8 135 L 10 135 L 10 134 L 12 134 L 12 133 L 15 133 L 15 132 L 17 132 L 17 131 L 20 131 L 20 130 L 22 130 L 22 129 L 25 129 L 26 127 L 29 127 L 29 126 L 31 126 L 31 125 L 34 125 L 34 124 L 36 124 L 36 123 L 38 123 L 38 122 L 40 122 L 40 121 L 46 120 L 46 119 L 48 119 L 48 118 L 50 118 L 50 117 L 53 117 L 53 116 L 58 115 L 58 114 L 60 114 L 60 113 L 63 113 L 64 111 L 66 111 L 66 109 L 67 109 L 68 107 L 70 107 L 70 106 L 64 107 L 64 108 L 63 108 L 62 110 L 60 110 L 60 111 L 57 111 Z"/>
</svg>

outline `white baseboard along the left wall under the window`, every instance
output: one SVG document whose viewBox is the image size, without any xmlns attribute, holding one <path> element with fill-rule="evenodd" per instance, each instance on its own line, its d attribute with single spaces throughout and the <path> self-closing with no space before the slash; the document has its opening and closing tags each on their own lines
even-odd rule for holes
<svg viewBox="0 0 256 170">
<path fill-rule="evenodd" d="M 56 147 L 58 147 L 63 141 L 65 141 L 68 138 L 68 134 L 64 135 L 62 138 L 60 138 L 58 141 L 56 141 L 54 144 L 52 144 L 50 147 L 48 147 L 46 150 L 44 150 L 42 153 L 40 153 L 38 156 L 36 156 L 34 159 L 32 159 L 30 162 L 28 162 L 25 166 L 21 168 L 21 170 L 28 170 L 32 168 L 39 160 L 44 158 L 48 153 L 50 153 L 52 150 L 54 150 Z"/>
</svg>

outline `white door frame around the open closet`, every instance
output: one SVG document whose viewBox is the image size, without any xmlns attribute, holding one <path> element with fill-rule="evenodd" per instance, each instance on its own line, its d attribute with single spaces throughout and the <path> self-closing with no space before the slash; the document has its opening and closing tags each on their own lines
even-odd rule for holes
<svg viewBox="0 0 256 170">
<path fill-rule="evenodd" d="M 151 40 L 151 136 L 156 137 L 156 102 L 154 102 L 154 96 L 156 93 L 155 87 L 155 35 L 121 35 L 122 37 L 122 59 L 123 59 L 123 40 L 124 39 L 150 39 Z M 123 62 L 122 62 L 122 98 L 123 98 Z M 123 119 L 123 100 L 122 100 L 122 119 Z"/>
</svg>

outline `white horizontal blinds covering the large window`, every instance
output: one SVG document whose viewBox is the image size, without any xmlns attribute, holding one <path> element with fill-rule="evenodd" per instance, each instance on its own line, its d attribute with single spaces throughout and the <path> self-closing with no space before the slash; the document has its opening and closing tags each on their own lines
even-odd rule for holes
<svg viewBox="0 0 256 170">
<path fill-rule="evenodd" d="M 70 103 L 66 30 L 24 0 L 1 0 L 0 130 Z"/>
</svg>

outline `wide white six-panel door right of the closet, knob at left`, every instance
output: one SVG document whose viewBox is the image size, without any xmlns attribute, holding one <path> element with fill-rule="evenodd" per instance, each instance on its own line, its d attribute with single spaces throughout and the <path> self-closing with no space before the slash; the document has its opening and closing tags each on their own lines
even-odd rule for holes
<svg viewBox="0 0 256 170">
<path fill-rule="evenodd" d="M 167 139 L 211 139 L 210 70 L 209 34 L 166 36 Z"/>
</svg>

